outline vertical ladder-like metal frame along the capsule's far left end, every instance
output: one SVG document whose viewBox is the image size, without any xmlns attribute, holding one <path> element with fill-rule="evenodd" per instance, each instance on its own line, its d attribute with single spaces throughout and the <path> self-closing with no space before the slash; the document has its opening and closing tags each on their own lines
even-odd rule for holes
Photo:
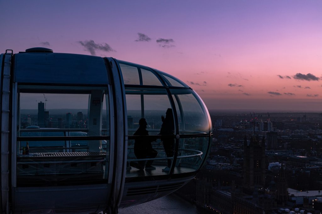
<svg viewBox="0 0 322 214">
<path fill-rule="evenodd" d="M 8 53 L 11 51 L 11 53 Z M 1 90 L 1 213 L 9 213 L 9 115 L 10 115 L 10 71 L 13 50 L 6 50 L 0 58 L 2 74 Z"/>
</svg>

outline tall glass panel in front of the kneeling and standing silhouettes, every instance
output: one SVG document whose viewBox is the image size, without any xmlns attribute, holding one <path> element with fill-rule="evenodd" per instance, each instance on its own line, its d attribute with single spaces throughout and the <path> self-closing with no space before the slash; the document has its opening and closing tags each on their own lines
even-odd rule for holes
<svg viewBox="0 0 322 214">
<path fill-rule="evenodd" d="M 171 166 L 175 148 L 174 115 L 166 89 L 125 90 L 129 135 L 126 176 L 166 175 L 169 170 L 162 169 Z"/>
</svg>

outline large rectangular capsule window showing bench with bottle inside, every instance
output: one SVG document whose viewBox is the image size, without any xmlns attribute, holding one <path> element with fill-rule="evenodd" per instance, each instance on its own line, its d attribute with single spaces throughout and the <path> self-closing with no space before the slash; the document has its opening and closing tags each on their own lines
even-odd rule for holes
<svg viewBox="0 0 322 214">
<path fill-rule="evenodd" d="M 18 86 L 17 186 L 108 179 L 108 100 L 107 87 Z"/>
</svg>

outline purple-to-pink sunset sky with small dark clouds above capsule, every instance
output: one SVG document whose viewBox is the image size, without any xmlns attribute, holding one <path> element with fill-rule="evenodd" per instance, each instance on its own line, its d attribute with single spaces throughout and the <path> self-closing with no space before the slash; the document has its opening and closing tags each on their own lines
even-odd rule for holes
<svg viewBox="0 0 322 214">
<path fill-rule="evenodd" d="M 208 109 L 322 111 L 322 1 L 0 1 L 0 53 L 109 56 Z"/>
</svg>

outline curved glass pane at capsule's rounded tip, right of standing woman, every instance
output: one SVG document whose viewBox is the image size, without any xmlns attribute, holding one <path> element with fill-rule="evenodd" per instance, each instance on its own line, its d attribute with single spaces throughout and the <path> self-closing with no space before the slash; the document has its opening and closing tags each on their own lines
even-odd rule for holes
<svg viewBox="0 0 322 214">
<path fill-rule="evenodd" d="M 175 98 L 177 115 L 180 116 L 180 134 L 197 133 L 202 131 L 209 133 L 210 125 L 208 115 L 201 102 L 194 96 L 192 90 L 171 89 Z M 189 131 L 189 132 L 187 132 Z"/>
</svg>

